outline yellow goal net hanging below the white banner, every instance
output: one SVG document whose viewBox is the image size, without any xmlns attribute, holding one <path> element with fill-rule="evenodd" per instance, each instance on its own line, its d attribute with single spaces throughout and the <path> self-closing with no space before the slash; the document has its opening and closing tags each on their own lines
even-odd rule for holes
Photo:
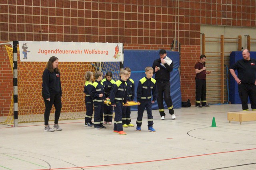
<svg viewBox="0 0 256 170">
<path fill-rule="evenodd" d="M 13 67 L 12 47 L 4 45 Z M 44 121 L 44 101 L 42 98 L 42 73 L 46 62 L 20 62 L 18 51 L 18 123 Z M 86 71 L 112 71 L 114 81 L 119 79 L 120 62 L 61 62 L 59 61 L 62 83 L 62 111 L 60 120 L 84 119 L 84 74 Z M 13 96 L 13 95 L 12 95 Z M 52 108 L 50 121 L 54 120 Z M 13 99 L 6 120 L 0 122 L 13 125 Z"/>
</svg>

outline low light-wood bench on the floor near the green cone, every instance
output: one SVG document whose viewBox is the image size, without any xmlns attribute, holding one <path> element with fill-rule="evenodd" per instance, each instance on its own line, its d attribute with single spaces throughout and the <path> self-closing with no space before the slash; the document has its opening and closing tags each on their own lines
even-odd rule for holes
<svg viewBox="0 0 256 170">
<path fill-rule="evenodd" d="M 228 121 L 242 122 L 256 121 L 256 111 L 228 112 Z"/>
</svg>

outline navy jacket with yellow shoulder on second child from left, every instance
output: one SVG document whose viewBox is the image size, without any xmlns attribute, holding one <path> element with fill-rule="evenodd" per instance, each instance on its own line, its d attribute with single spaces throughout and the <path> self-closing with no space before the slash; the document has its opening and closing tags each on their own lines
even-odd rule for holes
<svg viewBox="0 0 256 170">
<path fill-rule="evenodd" d="M 97 80 L 92 83 L 92 88 L 90 89 L 89 94 L 92 97 L 93 102 L 102 102 L 103 104 L 104 100 L 106 99 L 104 95 L 104 87 L 101 82 Z M 103 94 L 103 96 L 99 97 L 100 94 Z"/>
</svg>

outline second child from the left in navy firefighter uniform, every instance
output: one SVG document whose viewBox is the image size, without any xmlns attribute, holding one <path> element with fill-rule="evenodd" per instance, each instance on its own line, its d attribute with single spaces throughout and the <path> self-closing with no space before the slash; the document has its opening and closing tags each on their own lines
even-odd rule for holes
<svg viewBox="0 0 256 170">
<path fill-rule="evenodd" d="M 92 97 L 93 105 L 94 105 L 94 128 L 106 128 L 103 126 L 103 111 L 104 111 L 104 87 L 101 84 L 103 73 L 100 71 L 96 71 L 94 74 L 95 81 L 92 83 L 92 88 L 90 89 L 90 96 Z"/>
</svg>

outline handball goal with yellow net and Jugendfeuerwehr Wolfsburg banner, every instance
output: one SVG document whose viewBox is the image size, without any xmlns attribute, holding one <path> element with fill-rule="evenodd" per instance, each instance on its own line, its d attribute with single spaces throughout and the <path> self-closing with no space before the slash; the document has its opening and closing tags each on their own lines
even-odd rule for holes
<svg viewBox="0 0 256 170">
<path fill-rule="evenodd" d="M 54 43 L 58 45 L 54 46 Z M 86 108 L 83 86 L 86 71 L 94 73 L 101 70 L 104 75 L 107 71 L 112 71 L 112 79 L 117 81 L 120 69 L 123 68 L 122 43 L 17 42 L 16 54 L 14 44 L 13 42 L 13 48 L 7 45 L 5 47 L 11 65 L 17 68 L 16 72 L 13 71 L 13 76 L 17 75 L 13 93 L 17 92 L 17 94 L 13 94 L 6 121 L 0 123 L 15 127 L 18 123 L 44 121 L 44 102 L 41 93 L 42 73 L 51 56 L 58 57 L 61 74 L 62 112 L 59 120 L 84 119 Z M 47 55 L 45 53 L 38 55 L 39 48 L 47 50 L 43 51 Z M 56 49 L 57 51 L 66 50 L 72 54 L 51 53 Z M 82 53 L 75 53 L 74 50 L 80 50 Z M 14 64 L 15 55 L 16 64 Z M 50 121 L 54 120 L 54 111 L 53 107 Z"/>
</svg>

